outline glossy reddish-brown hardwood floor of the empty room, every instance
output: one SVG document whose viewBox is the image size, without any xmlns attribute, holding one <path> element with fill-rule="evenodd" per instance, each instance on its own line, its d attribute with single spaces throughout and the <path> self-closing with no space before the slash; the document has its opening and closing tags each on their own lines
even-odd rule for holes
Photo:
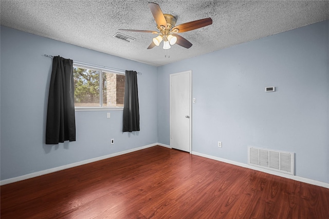
<svg viewBox="0 0 329 219">
<path fill-rule="evenodd" d="M 329 218 L 329 189 L 152 148 L 1 186 L 1 218 Z"/>
</svg>

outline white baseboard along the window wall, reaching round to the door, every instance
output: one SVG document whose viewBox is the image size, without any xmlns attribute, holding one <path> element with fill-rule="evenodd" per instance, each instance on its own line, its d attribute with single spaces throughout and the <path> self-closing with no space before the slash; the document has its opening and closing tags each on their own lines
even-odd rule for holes
<svg viewBox="0 0 329 219">
<path fill-rule="evenodd" d="M 41 176 L 41 175 L 45 175 L 45 174 L 48 174 L 48 173 L 53 173 L 53 172 L 57 172 L 57 171 L 60 171 L 60 170 L 65 170 L 65 169 L 68 169 L 68 168 L 77 167 L 77 166 L 80 166 L 80 165 L 89 164 L 89 163 L 93 163 L 93 162 L 96 162 L 96 161 L 101 161 L 101 160 L 104 160 L 104 159 L 107 159 L 107 158 L 110 158 L 110 157 L 119 156 L 119 155 L 122 155 L 122 154 L 142 150 L 142 149 L 145 149 L 145 148 L 150 148 L 150 147 L 153 147 L 153 146 L 156 146 L 156 145 L 163 146 L 163 147 L 168 147 L 166 145 L 159 144 L 159 143 L 155 143 L 155 144 L 151 144 L 151 145 L 145 145 L 145 146 L 142 146 L 142 147 L 133 148 L 133 149 L 125 150 L 125 151 L 120 151 L 120 152 L 113 153 L 113 154 L 108 154 L 108 155 L 105 155 L 105 156 L 99 156 L 99 157 L 91 158 L 91 159 L 88 159 L 88 160 L 85 160 L 85 161 L 80 161 L 80 162 L 67 164 L 67 165 L 60 166 L 60 167 L 55 167 L 55 168 L 51 168 L 51 169 L 47 169 L 47 170 L 42 170 L 42 171 L 38 171 L 38 172 L 34 172 L 34 173 L 29 173 L 29 174 L 22 175 L 22 176 L 8 178 L 7 180 L 0 181 L 0 185 L 2 186 L 2 185 L 9 184 L 9 183 L 15 183 L 15 182 L 18 182 L 18 181 L 27 180 L 28 178 L 33 178 L 33 177 L 36 177 L 36 176 Z"/>
</svg>

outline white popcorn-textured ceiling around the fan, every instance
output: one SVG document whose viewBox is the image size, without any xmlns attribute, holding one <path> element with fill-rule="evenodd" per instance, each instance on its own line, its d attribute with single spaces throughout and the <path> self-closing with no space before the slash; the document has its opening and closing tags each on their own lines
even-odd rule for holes
<svg viewBox="0 0 329 219">
<path fill-rule="evenodd" d="M 189 49 L 147 49 L 156 35 L 118 29 L 156 30 L 149 1 L 1 1 L 1 25 L 153 66 L 220 50 L 329 19 L 329 1 L 154 1 L 176 25 L 211 17 L 213 24 L 179 33 Z M 168 52 L 170 58 L 168 58 Z"/>
</svg>

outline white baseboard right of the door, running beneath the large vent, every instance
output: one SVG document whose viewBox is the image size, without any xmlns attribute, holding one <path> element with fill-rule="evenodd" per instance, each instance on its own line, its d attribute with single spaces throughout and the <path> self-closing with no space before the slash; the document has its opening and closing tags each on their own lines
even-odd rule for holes
<svg viewBox="0 0 329 219">
<path fill-rule="evenodd" d="M 195 152 L 195 151 L 192 151 L 192 154 L 197 155 L 197 156 L 203 156 L 203 157 L 206 157 L 206 158 L 209 158 L 209 159 L 212 159 L 212 160 L 221 161 L 221 162 L 228 163 L 228 164 L 233 164 L 235 166 L 245 167 L 245 168 L 248 168 L 248 169 L 257 170 L 257 171 L 261 171 L 261 172 L 264 172 L 264 173 L 277 175 L 277 176 L 281 176 L 281 177 L 284 177 L 284 178 L 289 178 L 290 180 L 296 180 L 296 181 L 299 181 L 299 182 L 302 182 L 302 183 L 308 183 L 308 184 L 312 184 L 312 185 L 315 185 L 315 186 L 321 186 L 321 187 L 324 187 L 324 188 L 329 188 L 329 183 L 323 183 L 323 182 L 316 181 L 316 180 L 310 180 L 309 178 L 303 178 L 303 177 L 296 176 L 296 175 L 289 175 L 289 174 L 284 174 L 284 173 L 280 173 L 280 172 L 276 172 L 276 171 L 272 171 L 272 170 L 262 169 L 262 168 L 259 168 L 259 167 L 254 167 L 254 166 L 250 166 L 250 165 L 247 165 L 247 164 L 226 160 L 226 159 L 221 158 L 221 157 L 216 157 L 216 156 L 203 154 L 203 153 L 199 153 L 199 152 Z"/>
</svg>

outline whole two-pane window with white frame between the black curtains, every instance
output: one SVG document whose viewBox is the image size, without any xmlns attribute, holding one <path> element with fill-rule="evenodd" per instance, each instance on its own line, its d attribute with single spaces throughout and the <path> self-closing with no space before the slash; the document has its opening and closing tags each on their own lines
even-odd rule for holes
<svg viewBox="0 0 329 219">
<path fill-rule="evenodd" d="M 76 108 L 122 108 L 124 73 L 73 65 Z"/>
</svg>

